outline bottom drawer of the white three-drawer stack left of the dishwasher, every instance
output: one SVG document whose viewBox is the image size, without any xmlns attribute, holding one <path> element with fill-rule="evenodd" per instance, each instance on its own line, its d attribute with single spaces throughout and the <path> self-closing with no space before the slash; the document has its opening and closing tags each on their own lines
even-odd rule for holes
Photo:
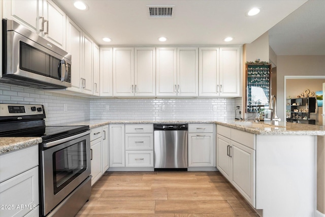
<svg viewBox="0 0 325 217">
<path fill-rule="evenodd" d="M 126 167 L 153 167 L 153 150 L 125 151 Z"/>
</svg>

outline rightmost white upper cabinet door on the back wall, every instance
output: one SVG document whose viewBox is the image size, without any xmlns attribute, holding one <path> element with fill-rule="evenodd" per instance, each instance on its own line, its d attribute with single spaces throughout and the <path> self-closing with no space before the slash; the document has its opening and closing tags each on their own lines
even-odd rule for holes
<svg viewBox="0 0 325 217">
<path fill-rule="evenodd" d="M 220 48 L 219 96 L 241 96 L 240 48 Z"/>
</svg>

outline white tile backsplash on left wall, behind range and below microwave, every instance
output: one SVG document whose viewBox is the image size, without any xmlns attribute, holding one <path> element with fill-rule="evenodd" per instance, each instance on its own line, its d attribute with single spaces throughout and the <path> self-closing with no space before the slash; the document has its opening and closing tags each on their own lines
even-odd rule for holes
<svg viewBox="0 0 325 217">
<path fill-rule="evenodd" d="M 69 96 L 60 92 L 0 83 L 0 103 L 44 105 L 46 125 L 82 121 L 90 118 L 90 101 L 88 98 Z M 64 111 L 64 104 L 67 107 L 66 111 Z"/>
</svg>

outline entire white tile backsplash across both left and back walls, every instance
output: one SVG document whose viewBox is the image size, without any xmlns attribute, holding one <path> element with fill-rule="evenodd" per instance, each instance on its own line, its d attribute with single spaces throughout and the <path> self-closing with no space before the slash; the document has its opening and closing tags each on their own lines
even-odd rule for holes
<svg viewBox="0 0 325 217">
<path fill-rule="evenodd" d="M 234 120 L 242 98 L 107 99 L 0 83 L 0 103 L 42 104 L 46 124 L 104 120 Z M 238 115 L 238 114 L 237 114 Z"/>
</svg>

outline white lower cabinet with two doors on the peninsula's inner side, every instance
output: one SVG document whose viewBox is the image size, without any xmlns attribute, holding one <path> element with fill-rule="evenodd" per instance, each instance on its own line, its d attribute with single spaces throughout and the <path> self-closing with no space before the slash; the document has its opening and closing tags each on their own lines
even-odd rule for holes
<svg viewBox="0 0 325 217">
<path fill-rule="evenodd" d="M 253 207 L 256 198 L 254 148 L 254 134 L 217 125 L 217 169 Z"/>
</svg>

